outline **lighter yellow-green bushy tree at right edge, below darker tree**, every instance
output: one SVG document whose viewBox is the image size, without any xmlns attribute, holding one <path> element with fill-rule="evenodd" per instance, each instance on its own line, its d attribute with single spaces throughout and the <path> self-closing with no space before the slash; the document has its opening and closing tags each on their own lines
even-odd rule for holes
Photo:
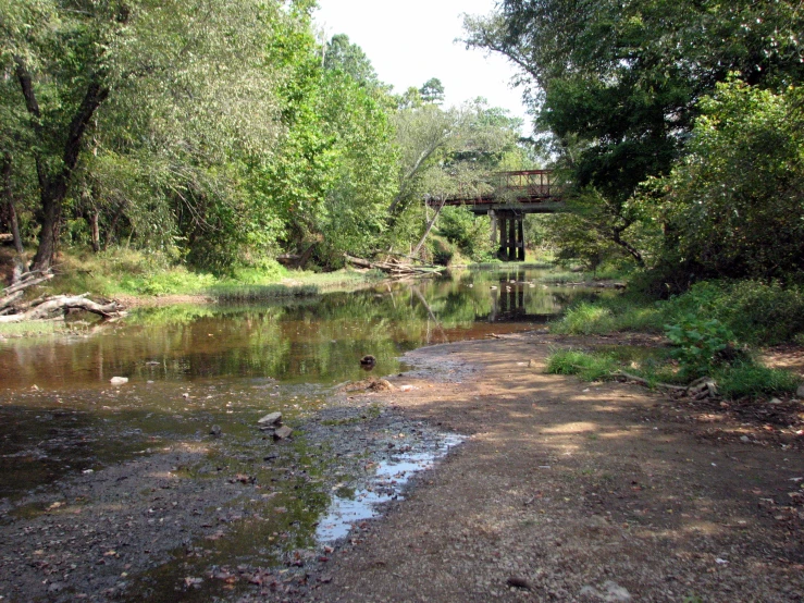
<svg viewBox="0 0 804 603">
<path fill-rule="evenodd" d="M 799 88 L 741 82 L 702 100 L 689 153 L 647 187 L 663 201 L 666 258 L 704 278 L 801 278 L 803 101 Z"/>
</svg>

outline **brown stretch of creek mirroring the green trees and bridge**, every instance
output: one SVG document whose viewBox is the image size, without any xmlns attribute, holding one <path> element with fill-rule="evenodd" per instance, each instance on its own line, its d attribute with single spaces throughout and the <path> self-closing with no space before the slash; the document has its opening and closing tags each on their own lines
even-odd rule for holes
<svg viewBox="0 0 804 603">
<path fill-rule="evenodd" d="M 539 284 L 542 272 L 467 271 L 415 284 L 263 306 L 177 306 L 134 315 L 86 336 L 0 343 L 0 386 L 106 386 L 218 377 L 339 383 L 378 373 L 432 343 L 531 328 L 558 313 L 572 290 Z"/>
</svg>

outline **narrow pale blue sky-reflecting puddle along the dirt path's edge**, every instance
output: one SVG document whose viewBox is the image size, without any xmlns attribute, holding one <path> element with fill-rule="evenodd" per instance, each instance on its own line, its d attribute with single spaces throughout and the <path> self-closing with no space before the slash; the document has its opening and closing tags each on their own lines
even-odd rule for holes
<svg viewBox="0 0 804 603">
<path fill-rule="evenodd" d="M 404 500 L 403 490 L 413 476 L 432 469 L 436 460 L 462 442 L 462 436 L 448 433 L 433 451 L 399 454 L 380 462 L 366 488 L 351 496 L 333 496 L 326 516 L 316 529 L 316 539 L 326 544 L 346 538 L 357 522 L 378 517 L 380 505 Z"/>
</svg>

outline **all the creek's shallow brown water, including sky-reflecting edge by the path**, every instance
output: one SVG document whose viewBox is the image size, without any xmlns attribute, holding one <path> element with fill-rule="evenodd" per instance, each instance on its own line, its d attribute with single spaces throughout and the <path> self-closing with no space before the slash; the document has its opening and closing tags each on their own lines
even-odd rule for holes
<svg viewBox="0 0 804 603">
<path fill-rule="evenodd" d="M 373 514 L 371 503 L 400 495 L 378 483 L 401 487 L 446 450 L 446 434 L 384 410 L 327 407 L 338 384 L 367 377 L 363 355 L 376 358 L 372 374 L 380 377 L 406 370 L 400 355 L 422 345 L 537 328 L 581 293 L 547 287 L 539 282 L 543 275 L 474 271 L 284 304 L 159 308 L 70 337 L 1 341 L 0 526 L 38 517 L 52 505 L 52 492 L 69 492 L 71 476 L 87 480 L 177 443 L 205 446 L 173 472 L 196 480 L 199 499 L 220 496 L 202 494 L 219 478 L 261 488 L 245 503 L 210 504 L 222 505 L 220 513 L 239 504 L 231 512 L 238 518 L 273 519 L 260 530 L 234 521 L 191 567 L 184 553 L 162 551 L 148 564 L 156 569 L 137 578 L 134 599 L 147 591 L 151 601 L 209 600 L 206 584 L 185 583 L 180 595 L 176 581 L 234 557 L 270 566 L 314 546 L 317 534 L 319 542 L 343 536 L 360 514 Z M 115 386 L 112 377 L 128 382 Z M 274 410 L 299 436 L 271 452 L 255 423 Z M 318 431 L 306 428 L 313 423 Z M 212 426 L 222 438 L 211 438 Z M 369 431 L 374 435 L 366 438 Z M 404 438 L 406 446 L 396 450 L 408 452 L 375 454 L 400 446 L 386 433 Z M 360 445 L 350 450 L 351 441 Z"/>
</svg>

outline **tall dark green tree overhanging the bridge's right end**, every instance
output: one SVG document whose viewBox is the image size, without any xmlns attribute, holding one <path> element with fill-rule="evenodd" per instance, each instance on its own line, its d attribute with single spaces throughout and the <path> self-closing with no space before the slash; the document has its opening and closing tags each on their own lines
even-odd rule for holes
<svg viewBox="0 0 804 603">
<path fill-rule="evenodd" d="M 776 89 L 801 81 L 803 20 L 793 1 L 505 0 L 466 28 L 469 46 L 520 67 L 568 194 L 598 198 L 590 225 L 643 263 L 639 185 L 670 171 L 697 100 L 730 72 Z"/>
</svg>

